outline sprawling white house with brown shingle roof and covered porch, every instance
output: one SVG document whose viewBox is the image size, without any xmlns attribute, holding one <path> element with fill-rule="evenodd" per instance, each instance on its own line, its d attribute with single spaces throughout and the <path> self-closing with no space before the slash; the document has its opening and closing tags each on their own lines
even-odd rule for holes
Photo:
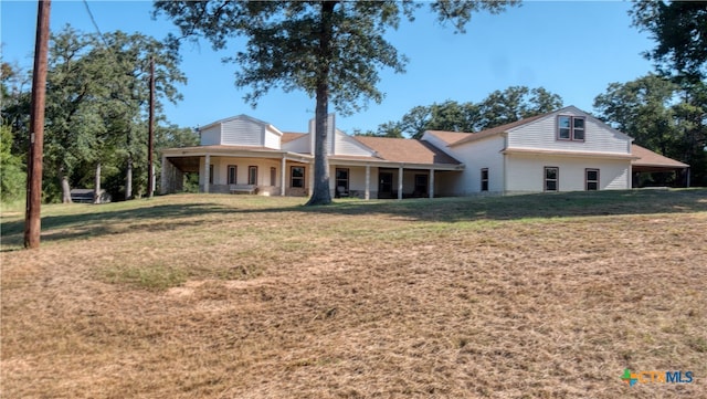
<svg viewBox="0 0 707 399">
<path fill-rule="evenodd" d="M 569 106 L 478 133 L 425 132 L 420 140 L 349 136 L 329 115 L 334 197 L 409 198 L 629 189 L 633 169 L 688 166 Z M 314 180 L 314 120 L 308 133 L 281 132 L 240 115 L 200 129 L 197 147 L 162 153 L 161 192 L 199 174 L 202 192 L 307 196 Z"/>
</svg>

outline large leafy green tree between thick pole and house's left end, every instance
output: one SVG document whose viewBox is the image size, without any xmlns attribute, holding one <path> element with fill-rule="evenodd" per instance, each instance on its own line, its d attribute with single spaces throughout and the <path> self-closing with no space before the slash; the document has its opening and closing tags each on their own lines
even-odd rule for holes
<svg viewBox="0 0 707 399">
<path fill-rule="evenodd" d="M 98 191 L 101 174 L 119 170 L 126 172 L 126 197 L 131 197 L 133 165 L 146 162 L 146 151 L 139 148 L 147 143 L 150 57 L 156 65 L 158 114 L 160 98 L 178 101 L 175 84 L 186 82 L 172 50 L 139 33 L 117 31 L 98 36 L 67 27 L 53 35 L 45 160 L 55 178 L 48 185 L 61 180 L 63 201 L 70 201 L 71 183 Z M 95 176 L 93 183 L 87 176 Z"/>
</svg>

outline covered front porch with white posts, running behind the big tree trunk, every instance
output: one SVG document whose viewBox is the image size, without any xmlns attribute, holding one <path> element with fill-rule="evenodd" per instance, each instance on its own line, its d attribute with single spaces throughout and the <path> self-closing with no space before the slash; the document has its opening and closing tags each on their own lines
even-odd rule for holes
<svg viewBox="0 0 707 399">
<path fill-rule="evenodd" d="M 403 164 L 371 157 L 330 157 L 333 198 L 434 198 L 443 192 L 443 175 L 462 165 Z M 186 174 L 199 175 L 199 192 L 305 197 L 312 195 L 313 157 L 272 149 L 224 146 L 170 149 L 162 155 L 161 193 L 183 190 Z"/>
</svg>

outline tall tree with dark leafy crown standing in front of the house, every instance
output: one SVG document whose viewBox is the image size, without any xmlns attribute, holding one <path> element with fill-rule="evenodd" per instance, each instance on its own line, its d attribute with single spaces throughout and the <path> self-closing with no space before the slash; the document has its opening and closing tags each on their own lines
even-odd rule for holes
<svg viewBox="0 0 707 399">
<path fill-rule="evenodd" d="M 500 12 L 516 0 L 441 0 L 431 9 L 442 22 L 463 32 L 472 13 Z M 308 204 L 326 204 L 329 167 L 326 132 L 329 101 L 342 114 L 359 111 L 383 97 L 376 86 L 379 69 L 403 72 L 405 57 L 384 38 L 401 17 L 413 19 L 421 3 L 412 1 L 156 1 L 183 35 L 200 34 L 215 49 L 226 39 L 247 38 L 230 61 L 241 65 L 235 83 L 250 86 L 246 101 L 255 105 L 273 87 L 302 90 L 316 98 L 315 180 Z"/>
</svg>

